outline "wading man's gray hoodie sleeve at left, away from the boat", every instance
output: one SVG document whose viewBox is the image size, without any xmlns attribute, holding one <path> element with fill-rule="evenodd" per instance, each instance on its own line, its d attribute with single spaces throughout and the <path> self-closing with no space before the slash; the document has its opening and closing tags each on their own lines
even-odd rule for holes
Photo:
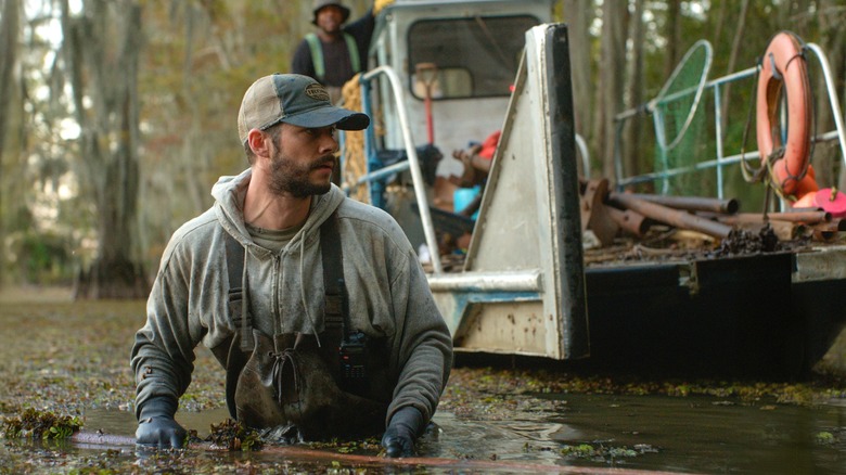
<svg viewBox="0 0 846 475">
<path fill-rule="evenodd" d="M 171 239 L 146 304 L 146 324 L 136 333 L 131 367 L 136 415 L 155 397 L 179 401 L 191 383 L 194 347 L 202 326 L 189 318 L 191 256 L 177 234 Z M 191 328 L 193 326 L 193 329 Z"/>
</svg>

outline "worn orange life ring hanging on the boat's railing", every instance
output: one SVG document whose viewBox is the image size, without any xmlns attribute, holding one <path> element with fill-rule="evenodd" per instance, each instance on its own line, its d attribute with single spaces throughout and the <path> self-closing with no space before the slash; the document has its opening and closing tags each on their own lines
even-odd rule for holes
<svg viewBox="0 0 846 475">
<path fill-rule="evenodd" d="M 787 101 L 787 138 L 783 150 L 777 117 L 782 88 Z M 819 189 L 810 166 L 811 116 L 810 82 L 802 40 L 790 31 L 780 31 L 770 40 L 761 60 L 756 131 L 761 163 L 769 162 L 771 180 L 785 196 L 802 198 Z M 778 152 L 777 156 L 773 151 Z"/>
</svg>

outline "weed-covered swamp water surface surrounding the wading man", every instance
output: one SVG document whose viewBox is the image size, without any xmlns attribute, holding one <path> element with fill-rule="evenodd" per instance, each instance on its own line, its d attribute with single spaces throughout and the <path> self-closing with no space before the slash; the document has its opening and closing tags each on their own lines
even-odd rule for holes
<svg viewBox="0 0 846 475">
<path fill-rule="evenodd" d="M 453 370 L 436 428 L 421 439 L 413 463 L 374 457 L 375 440 L 294 452 L 137 450 L 127 444 L 136 426 L 128 359 L 143 320 L 143 303 L 0 301 L 0 418 L 29 407 L 79 415 L 86 433 L 120 440 L 0 439 L 0 474 L 846 474 L 842 386 L 816 387 L 796 405 L 772 396 L 797 391 L 792 385 L 736 390 L 715 383 L 725 396 L 676 397 L 653 390 L 667 382 L 628 387 L 604 376 L 490 368 Z M 210 354 L 197 351 L 195 364 L 177 419 L 205 437 L 228 412 Z"/>
</svg>

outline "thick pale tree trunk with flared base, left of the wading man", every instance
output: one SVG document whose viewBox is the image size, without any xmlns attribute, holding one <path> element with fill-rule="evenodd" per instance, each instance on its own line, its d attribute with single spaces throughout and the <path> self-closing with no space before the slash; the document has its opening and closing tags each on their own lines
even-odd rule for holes
<svg viewBox="0 0 846 475">
<path fill-rule="evenodd" d="M 138 205 L 138 59 L 141 8 L 132 0 L 84 2 L 70 17 L 63 2 L 65 51 L 70 68 L 80 149 L 94 191 L 98 256 L 80 274 L 77 298 L 141 298 L 149 285 L 133 259 Z M 82 98 L 92 102 L 84 103 Z"/>
</svg>

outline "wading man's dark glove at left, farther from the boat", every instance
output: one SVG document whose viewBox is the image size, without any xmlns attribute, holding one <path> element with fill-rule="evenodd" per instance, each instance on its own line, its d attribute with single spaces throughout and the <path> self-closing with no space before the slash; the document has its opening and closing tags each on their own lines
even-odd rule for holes
<svg viewBox="0 0 846 475">
<path fill-rule="evenodd" d="M 177 407 L 177 401 L 168 397 L 144 401 L 138 415 L 136 444 L 159 449 L 181 449 L 188 433 L 174 420 Z"/>
</svg>

